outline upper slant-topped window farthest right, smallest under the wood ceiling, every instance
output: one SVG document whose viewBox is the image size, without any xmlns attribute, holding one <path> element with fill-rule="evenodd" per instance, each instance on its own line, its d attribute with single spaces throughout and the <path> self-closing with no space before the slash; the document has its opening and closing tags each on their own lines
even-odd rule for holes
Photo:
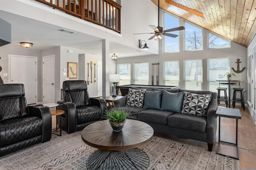
<svg viewBox="0 0 256 170">
<path fill-rule="evenodd" d="M 225 48 L 230 47 L 230 41 L 225 40 L 219 35 L 215 35 L 213 33 L 208 33 L 208 48 L 216 49 L 216 48 Z"/>
</svg>

